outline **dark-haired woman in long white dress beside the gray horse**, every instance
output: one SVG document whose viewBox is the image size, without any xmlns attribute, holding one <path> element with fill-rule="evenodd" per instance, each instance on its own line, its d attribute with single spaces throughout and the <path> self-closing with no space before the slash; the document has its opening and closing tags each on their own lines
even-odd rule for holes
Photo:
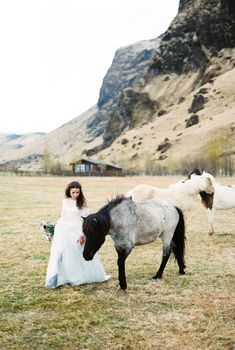
<svg viewBox="0 0 235 350">
<path fill-rule="evenodd" d="M 104 282 L 109 276 L 105 274 L 99 256 L 96 254 L 93 260 L 86 261 L 82 255 L 85 239 L 82 217 L 89 215 L 89 209 L 80 183 L 68 184 L 65 197 L 61 217 L 55 225 L 45 287 Z"/>
</svg>

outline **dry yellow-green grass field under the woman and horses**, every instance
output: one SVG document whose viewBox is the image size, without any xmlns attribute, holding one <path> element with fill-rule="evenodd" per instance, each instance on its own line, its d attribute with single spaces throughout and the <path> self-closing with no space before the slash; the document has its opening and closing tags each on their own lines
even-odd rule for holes
<svg viewBox="0 0 235 350">
<path fill-rule="evenodd" d="M 176 177 L 81 178 L 91 211 L 138 183 L 166 186 Z M 108 237 L 100 250 L 101 284 L 44 288 L 50 243 L 39 228 L 56 221 L 73 178 L 0 177 L 0 349 L 235 349 L 235 210 L 216 215 L 208 236 L 198 200 L 187 220 L 186 275 L 172 258 L 152 280 L 161 242 L 137 247 L 126 262 L 128 289 L 117 282 Z M 235 179 L 221 179 L 235 183 Z"/>
</svg>

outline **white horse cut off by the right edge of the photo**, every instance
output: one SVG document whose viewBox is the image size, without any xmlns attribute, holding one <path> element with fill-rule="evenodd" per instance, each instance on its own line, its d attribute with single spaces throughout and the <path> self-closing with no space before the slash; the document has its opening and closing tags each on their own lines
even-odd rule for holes
<svg viewBox="0 0 235 350">
<path fill-rule="evenodd" d="M 199 172 L 196 170 L 196 173 Z M 210 177 L 211 181 L 214 182 L 214 177 L 206 172 L 203 172 Z M 195 176 L 194 173 L 192 173 Z M 209 235 L 214 233 L 214 220 L 216 209 L 233 209 L 235 208 L 235 185 L 223 186 L 217 182 L 214 182 L 215 192 L 214 195 L 207 195 L 203 192 L 200 193 L 202 198 L 202 203 L 207 211 L 207 218 L 209 224 Z"/>
</svg>

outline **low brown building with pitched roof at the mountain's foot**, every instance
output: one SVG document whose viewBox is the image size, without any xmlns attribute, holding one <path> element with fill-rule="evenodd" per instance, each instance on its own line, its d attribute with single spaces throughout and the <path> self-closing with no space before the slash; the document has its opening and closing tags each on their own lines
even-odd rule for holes
<svg viewBox="0 0 235 350">
<path fill-rule="evenodd" d="M 122 176 L 122 168 L 113 163 L 105 163 L 102 160 L 82 158 L 70 163 L 74 175 L 84 176 Z"/>
</svg>

